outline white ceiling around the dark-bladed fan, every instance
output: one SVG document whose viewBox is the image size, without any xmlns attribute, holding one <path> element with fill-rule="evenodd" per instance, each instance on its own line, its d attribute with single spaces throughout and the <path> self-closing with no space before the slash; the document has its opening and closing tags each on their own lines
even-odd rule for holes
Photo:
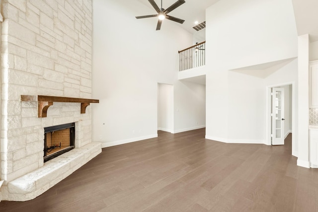
<svg viewBox="0 0 318 212">
<path fill-rule="evenodd" d="M 152 15 L 157 13 L 148 0 L 138 0 L 138 1 L 147 5 L 150 9 L 149 9 L 149 12 L 146 12 L 145 14 L 137 14 L 136 16 Z M 162 0 L 162 7 L 166 9 L 176 1 L 177 0 Z M 185 0 L 185 3 L 183 3 L 181 6 L 177 7 L 173 11 L 171 11 L 168 15 L 185 20 L 183 24 L 179 24 L 179 23 L 175 23 L 175 24 L 180 25 L 182 28 L 184 28 L 185 30 L 187 30 L 188 32 L 192 34 L 196 32 L 196 30 L 192 28 L 193 26 L 196 25 L 194 22 L 198 21 L 199 23 L 201 23 L 205 21 L 205 9 L 217 1 L 219 0 Z M 155 2 L 157 3 L 159 7 L 161 7 L 161 0 L 155 0 Z M 167 20 L 167 21 L 170 21 L 170 20 Z"/>
</svg>

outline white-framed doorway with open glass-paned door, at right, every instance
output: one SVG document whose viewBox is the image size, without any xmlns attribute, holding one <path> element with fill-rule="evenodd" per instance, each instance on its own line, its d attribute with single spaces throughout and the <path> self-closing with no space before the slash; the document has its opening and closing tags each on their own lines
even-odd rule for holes
<svg viewBox="0 0 318 212">
<path fill-rule="evenodd" d="M 279 111 L 276 110 L 276 104 L 278 103 L 276 100 L 276 91 L 280 91 L 279 95 L 282 94 L 282 90 L 284 91 L 284 95 L 281 96 L 283 105 L 280 105 L 283 108 L 280 108 L 284 111 L 283 115 L 279 115 Z M 277 84 L 266 87 L 266 140 L 268 145 L 272 144 L 284 144 L 280 143 L 284 141 L 286 137 L 295 132 L 295 84 L 294 82 L 286 83 L 286 84 Z M 273 101 L 272 101 L 272 93 L 273 93 Z M 274 104 L 274 106 L 273 106 Z M 277 105 L 279 106 L 279 105 Z M 278 108 L 278 107 L 277 107 Z M 277 116 L 277 117 L 276 117 Z M 284 120 L 282 120 L 284 119 Z M 283 122 L 283 123 L 282 123 Z M 276 126 L 277 125 L 277 126 Z M 279 135 L 277 135 L 279 134 Z M 275 138 L 273 138 L 275 137 Z M 276 138 L 281 138 L 280 141 L 275 141 Z M 295 147 L 295 134 L 292 134 L 292 154 L 296 155 Z M 274 142 L 273 142 L 274 140 Z"/>
</svg>

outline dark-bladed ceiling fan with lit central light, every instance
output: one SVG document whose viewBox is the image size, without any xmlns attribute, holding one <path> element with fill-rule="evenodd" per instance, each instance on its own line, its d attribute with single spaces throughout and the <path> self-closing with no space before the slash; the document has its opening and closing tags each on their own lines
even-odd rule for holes
<svg viewBox="0 0 318 212">
<path fill-rule="evenodd" d="M 139 18 L 150 18 L 150 17 L 158 17 L 159 20 L 158 20 L 158 24 L 157 24 L 157 28 L 156 30 L 160 30 L 161 28 L 161 23 L 162 23 L 162 20 L 164 18 L 166 19 L 169 19 L 169 20 L 172 20 L 172 21 L 175 21 L 175 22 L 178 22 L 178 23 L 183 23 L 184 20 L 180 19 L 180 18 L 176 18 L 176 17 L 173 17 L 173 16 L 169 16 L 167 15 L 169 12 L 171 12 L 173 9 L 177 8 L 178 6 L 180 6 L 181 4 L 185 3 L 185 0 L 177 0 L 174 4 L 172 4 L 171 6 L 169 6 L 168 8 L 166 9 L 163 9 L 162 8 L 162 0 L 161 0 L 161 8 L 159 8 L 159 6 L 157 5 L 157 3 L 155 2 L 155 0 L 148 0 L 151 5 L 155 8 L 155 10 L 158 12 L 158 14 L 156 15 L 144 15 L 144 16 L 136 16 L 137 19 Z"/>
</svg>

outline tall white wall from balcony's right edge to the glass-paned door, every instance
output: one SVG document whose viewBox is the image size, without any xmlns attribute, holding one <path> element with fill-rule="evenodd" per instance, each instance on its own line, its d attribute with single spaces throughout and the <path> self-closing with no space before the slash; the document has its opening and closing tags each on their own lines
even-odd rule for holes
<svg viewBox="0 0 318 212">
<path fill-rule="evenodd" d="M 221 0 L 206 10 L 206 23 L 206 138 L 265 143 L 268 75 L 236 70 L 297 57 L 292 2 Z M 286 80 L 280 69 L 271 83 Z"/>
</svg>

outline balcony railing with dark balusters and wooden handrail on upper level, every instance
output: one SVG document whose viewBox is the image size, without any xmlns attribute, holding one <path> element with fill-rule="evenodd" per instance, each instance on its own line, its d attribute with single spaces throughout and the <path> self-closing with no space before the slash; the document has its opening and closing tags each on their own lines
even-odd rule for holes
<svg viewBox="0 0 318 212">
<path fill-rule="evenodd" d="M 205 65 L 205 41 L 179 52 L 179 71 Z"/>
</svg>

